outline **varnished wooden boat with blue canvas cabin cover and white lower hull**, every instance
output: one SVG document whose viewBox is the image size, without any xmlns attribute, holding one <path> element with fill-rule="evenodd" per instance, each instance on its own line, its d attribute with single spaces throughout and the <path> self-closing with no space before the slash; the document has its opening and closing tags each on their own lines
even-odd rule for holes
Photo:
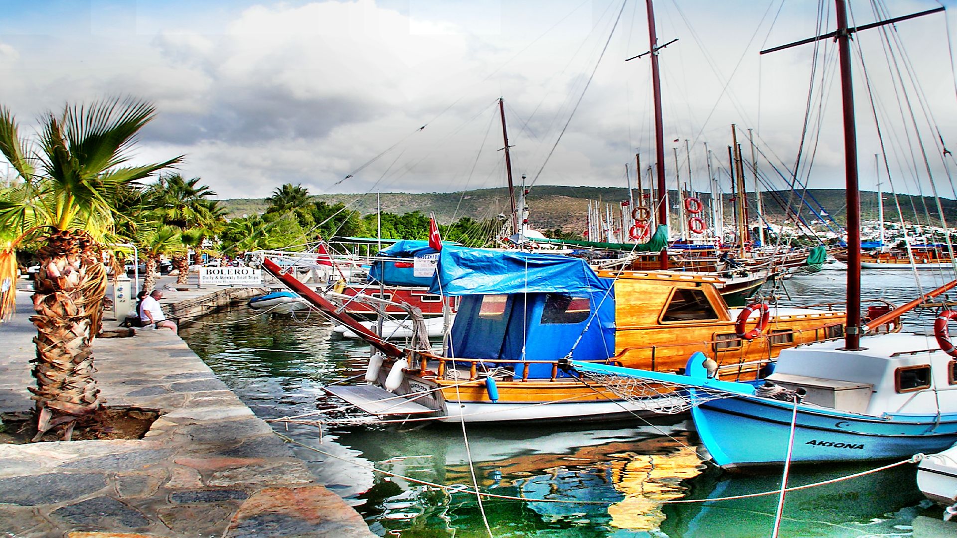
<svg viewBox="0 0 957 538">
<path fill-rule="evenodd" d="M 297 280 L 282 276 L 268 259 L 263 267 L 311 303 L 344 317 Z M 559 370 L 559 361 L 571 356 L 675 371 L 690 353 L 703 351 L 717 361 L 723 376 L 754 379 L 782 349 L 835 338 L 845 321 L 838 309 L 780 308 L 768 312 L 767 333 L 748 340 L 737 334 L 742 310 L 726 306 L 715 287 L 720 280 L 713 277 L 596 274 L 577 258 L 456 247 L 442 249 L 438 267 L 433 291 L 460 301 L 444 351 L 383 347 L 371 330 L 354 323 L 362 328 L 350 329 L 381 351 L 367 372 L 374 387 L 330 387 L 329 392 L 375 415 L 421 414 L 447 421 L 655 413 L 670 405 L 670 394 L 630 401 L 583 384 Z M 502 267 L 507 270 L 489 269 Z M 396 400 L 392 392 L 409 401 Z"/>
</svg>

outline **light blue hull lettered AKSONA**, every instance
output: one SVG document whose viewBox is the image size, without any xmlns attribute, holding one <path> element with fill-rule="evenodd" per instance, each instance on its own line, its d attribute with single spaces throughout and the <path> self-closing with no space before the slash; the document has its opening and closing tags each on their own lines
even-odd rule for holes
<svg viewBox="0 0 957 538">
<path fill-rule="evenodd" d="M 780 465 L 787 458 L 793 404 L 751 396 L 692 409 L 695 427 L 723 468 Z M 791 462 L 891 460 L 944 450 L 957 441 L 957 415 L 857 415 L 798 405 Z"/>
</svg>

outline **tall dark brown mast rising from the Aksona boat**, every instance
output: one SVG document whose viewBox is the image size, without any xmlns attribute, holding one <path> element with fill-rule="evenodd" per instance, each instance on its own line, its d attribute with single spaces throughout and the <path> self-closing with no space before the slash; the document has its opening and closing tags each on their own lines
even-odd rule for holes
<svg viewBox="0 0 957 538">
<path fill-rule="evenodd" d="M 847 329 L 844 347 L 860 349 L 860 192 L 857 185 L 857 130 L 851 81 L 851 34 L 847 6 L 836 0 L 837 51 L 840 55 L 841 104 L 844 109 L 844 173 L 847 190 Z"/>
</svg>

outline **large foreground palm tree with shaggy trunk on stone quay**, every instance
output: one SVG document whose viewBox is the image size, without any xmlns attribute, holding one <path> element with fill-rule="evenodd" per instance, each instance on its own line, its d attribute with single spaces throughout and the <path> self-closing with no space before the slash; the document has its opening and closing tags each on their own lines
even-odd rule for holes
<svg viewBox="0 0 957 538">
<path fill-rule="evenodd" d="M 154 115 L 152 104 L 132 98 L 67 104 L 60 114 L 42 116 L 33 139 L 21 139 L 10 110 L 0 106 L 0 152 L 22 182 L 0 201 L 7 238 L 0 246 L 0 283 L 15 277 L 9 260 L 16 249 L 43 237 L 31 317 L 37 439 L 59 424 L 66 424 L 69 439 L 78 417 L 100 408 L 92 344 L 106 289 L 101 242 L 114 237 L 118 192 L 182 160 L 128 164 L 137 133 Z M 0 286 L 0 319 L 12 315 L 13 287 Z"/>
</svg>

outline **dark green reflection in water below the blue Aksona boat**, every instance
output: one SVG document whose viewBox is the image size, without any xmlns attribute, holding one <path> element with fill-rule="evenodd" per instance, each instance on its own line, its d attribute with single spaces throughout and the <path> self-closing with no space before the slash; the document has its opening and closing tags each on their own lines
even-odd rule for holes
<svg viewBox="0 0 957 538">
<path fill-rule="evenodd" d="M 864 471 L 870 466 L 792 468 L 788 485 L 822 482 Z M 845 482 L 790 491 L 785 498 L 780 536 L 900 536 L 921 500 L 914 470 L 901 466 Z M 691 482 L 687 499 L 717 499 L 781 487 L 779 474 L 741 475 L 706 472 Z M 769 536 L 778 495 L 708 504 L 666 504 L 661 532 L 672 537 Z"/>
</svg>

